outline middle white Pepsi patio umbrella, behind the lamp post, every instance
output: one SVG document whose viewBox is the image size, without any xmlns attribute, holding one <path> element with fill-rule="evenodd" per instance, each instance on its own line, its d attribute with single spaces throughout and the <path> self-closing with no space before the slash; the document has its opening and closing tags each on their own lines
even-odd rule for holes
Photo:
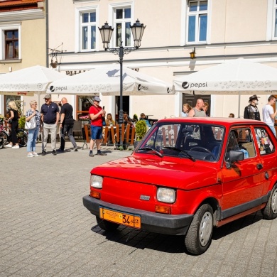
<svg viewBox="0 0 277 277">
<path fill-rule="evenodd" d="M 120 94 L 119 64 L 98 67 L 94 70 L 65 77 L 53 82 L 49 94 L 104 95 Z M 168 82 L 123 67 L 123 95 L 173 94 Z"/>
</svg>

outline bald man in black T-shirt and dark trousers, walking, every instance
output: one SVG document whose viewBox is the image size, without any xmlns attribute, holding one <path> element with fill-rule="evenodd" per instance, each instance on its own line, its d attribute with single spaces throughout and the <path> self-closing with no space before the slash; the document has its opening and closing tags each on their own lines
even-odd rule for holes
<svg viewBox="0 0 277 277">
<path fill-rule="evenodd" d="M 60 148 L 57 152 L 65 151 L 65 134 L 67 133 L 68 139 L 72 143 L 73 151 L 78 151 L 76 141 L 74 136 L 72 135 L 73 132 L 73 107 L 67 103 L 67 99 L 63 97 L 60 101 L 62 107 L 60 109 Z"/>
</svg>

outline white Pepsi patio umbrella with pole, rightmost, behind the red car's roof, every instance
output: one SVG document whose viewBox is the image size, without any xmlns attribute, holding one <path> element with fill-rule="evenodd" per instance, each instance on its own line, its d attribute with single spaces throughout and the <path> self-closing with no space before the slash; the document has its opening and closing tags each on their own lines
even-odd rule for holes
<svg viewBox="0 0 277 277">
<path fill-rule="evenodd" d="M 173 90 L 188 94 L 273 94 L 277 69 L 243 58 L 214 65 L 173 80 Z"/>
</svg>

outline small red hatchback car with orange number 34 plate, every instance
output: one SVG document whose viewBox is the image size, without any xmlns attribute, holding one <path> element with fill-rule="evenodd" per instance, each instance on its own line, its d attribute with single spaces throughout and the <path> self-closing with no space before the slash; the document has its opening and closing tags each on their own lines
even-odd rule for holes
<svg viewBox="0 0 277 277">
<path fill-rule="evenodd" d="M 212 230 L 261 210 L 277 217 L 276 138 L 261 121 L 158 121 L 131 156 L 93 168 L 83 197 L 99 227 L 185 236 L 204 253 Z"/>
</svg>

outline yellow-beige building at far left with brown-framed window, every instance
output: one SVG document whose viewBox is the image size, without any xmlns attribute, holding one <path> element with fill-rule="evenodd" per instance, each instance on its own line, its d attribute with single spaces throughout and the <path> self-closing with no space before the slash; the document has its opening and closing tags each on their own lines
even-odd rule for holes
<svg viewBox="0 0 277 277">
<path fill-rule="evenodd" d="M 46 65 L 45 26 L 43 0 L 0 1 L 0 74 Z M 30 97 L 24 97 L 24 93 L 1 92 L 0 114 L 6 114 L 10 100 L 16 101 L 21 112 L 30 107 Z"/>
</svg>

